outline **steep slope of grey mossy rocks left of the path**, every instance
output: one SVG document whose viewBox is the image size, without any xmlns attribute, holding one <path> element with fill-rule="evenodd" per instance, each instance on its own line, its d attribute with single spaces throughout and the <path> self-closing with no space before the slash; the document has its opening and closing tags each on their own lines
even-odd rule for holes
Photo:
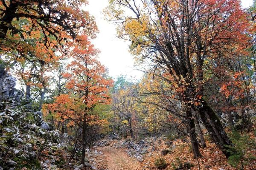
<svg viewBox="0 0 256 170">
<path fill-rule="evenodd" d="M 67 134 L 44 122 L 41 111 L 32 112 L 9 97 L 0 99 L 0 170 L 96 169 L 93 158 L 100 153 L 88 148 L 87 164 L 81 166 L 79 156 L 68 163 L 68 146 Z"/>
</svg>

